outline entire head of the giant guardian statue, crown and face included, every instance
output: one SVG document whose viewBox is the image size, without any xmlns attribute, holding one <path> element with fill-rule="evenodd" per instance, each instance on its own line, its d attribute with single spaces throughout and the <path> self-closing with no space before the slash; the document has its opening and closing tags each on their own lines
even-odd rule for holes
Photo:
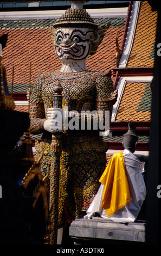
<svg viewBox="0 0 161 256">
<path fill-rule="evenodd" d="M 96 25 L 85 9 L 76 6 L 86 1 L 71 2 L 72 7 L 50 26 L 55 51 L 60 60 L 82 60 L 88 54 L 95 54 L 110 27 L 110 22 L 105 27 Z"/>
</svg>

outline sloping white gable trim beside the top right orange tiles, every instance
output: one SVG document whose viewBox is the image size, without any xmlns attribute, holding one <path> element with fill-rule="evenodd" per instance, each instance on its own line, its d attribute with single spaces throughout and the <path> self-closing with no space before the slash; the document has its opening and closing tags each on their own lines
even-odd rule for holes
<svg viewBox="0 0 161 256">
<path fill-rule="evenodd" d="M 127 61 L 130 56 L 131 48 L 133 45 L 134 35 L 136 32 L 139 9 L 140 9 L 140 1 L 133 1 L 130 21 L 129 21 L 128 30 L 127 30 L 127 37 L 125 40 L 123 54 L 120 59 L 119 68 L 126 68 Z"/>
</svg>

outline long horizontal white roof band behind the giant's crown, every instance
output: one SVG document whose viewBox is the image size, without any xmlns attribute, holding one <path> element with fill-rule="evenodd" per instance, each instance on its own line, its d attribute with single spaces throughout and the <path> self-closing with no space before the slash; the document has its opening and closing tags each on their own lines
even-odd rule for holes
<svg viewBox="0 0 161 256">
<path fill-rule="evenodd" d="M 96 18 L 127 17 L 128 8 L 106 8 L 106 9 L 86 9 L 86 11 Z M 1 11 L 0 20 L 43 20 L 58 19 L 66 10 L 44 10 L 44 11 Z"/>
</svg>

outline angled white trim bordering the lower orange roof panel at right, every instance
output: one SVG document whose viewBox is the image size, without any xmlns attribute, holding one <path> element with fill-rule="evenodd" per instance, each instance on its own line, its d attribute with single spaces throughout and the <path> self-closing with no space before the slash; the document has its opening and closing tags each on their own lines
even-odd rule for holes
<svg viewBox="0 0 161 256">
<path fill-rule="evenodd" d="M 151 82 L 152 78 L 153 76 L 133 76 L 133 77 L 127 76 L 127 77 L 121 77 L 119 79 L 119 82 L 117 84 L 118 98 L 115 104 L 113 105 L 113 109 L 112 109 L 112 117 L 111 117 L 112 122 L 115 121 L 115 118 L 117 116 L 118 108 L 124 93 L 126 82 Z"/>
</svg>

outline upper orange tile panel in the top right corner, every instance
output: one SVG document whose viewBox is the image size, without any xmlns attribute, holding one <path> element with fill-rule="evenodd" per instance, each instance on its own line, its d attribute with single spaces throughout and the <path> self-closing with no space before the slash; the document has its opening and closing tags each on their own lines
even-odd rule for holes
<svg viewBox="0 0 161 256">
<path fill-rule="evenodd" d="M 154 65 L 156 25 L 157 11 L 152 11 L 151 5 L 147 1 L 141 2 L 136 33 L 127 67 Z"/>
</svg>

